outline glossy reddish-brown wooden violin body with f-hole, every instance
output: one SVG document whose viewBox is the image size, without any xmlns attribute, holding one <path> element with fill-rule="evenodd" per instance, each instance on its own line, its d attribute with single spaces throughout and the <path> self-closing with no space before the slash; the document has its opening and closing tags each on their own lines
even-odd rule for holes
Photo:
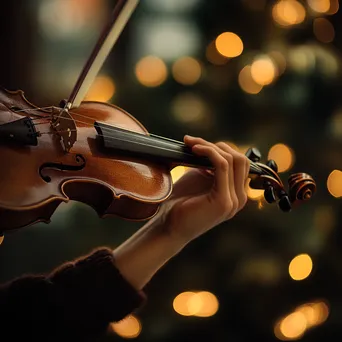
<svg viewBox="0 0 342 342">
<path fill-rule="evenodd" d="M 47 114 L 21 91 L 0 93 L 0 125 Z M 90 205 L 100 217 L 145 220 L 171 194 L 170 165 L 107 153 L 88 125 L 92 118 L 92 124 L 101 121 L 148 135 L 133 116 L 100 102 L 83 102 L 70 116 L 75 118 L 77 141 L 68 153 L 49 122 L 37 125 L 51 133 L 39 136 L 37 146 L 0 143 L 0 231 L 49 222 L 59 204 L 70 200 Z M 82 116 L 87 125 L 78 122 Z"/>
</svg>

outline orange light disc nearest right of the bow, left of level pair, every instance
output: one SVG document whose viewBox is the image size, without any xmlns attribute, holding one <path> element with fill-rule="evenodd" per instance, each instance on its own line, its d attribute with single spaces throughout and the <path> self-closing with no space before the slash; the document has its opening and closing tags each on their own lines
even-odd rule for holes
<svg viewBox="0 0 342 342">
<path fill-rule="evenodd" d="M 146 87 L 158 87 L 165 82 L 168 72 L 161 58 L 146 56 L 137 63 L 135 75 L 142 85 Z"/>
</svg>

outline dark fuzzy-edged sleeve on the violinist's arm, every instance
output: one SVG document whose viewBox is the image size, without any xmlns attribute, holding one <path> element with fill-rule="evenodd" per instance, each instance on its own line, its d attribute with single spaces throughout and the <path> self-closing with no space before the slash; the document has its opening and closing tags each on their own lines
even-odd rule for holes
<svg viewBox="0 0 342 342">
<path fill-rule="evenodd" d="M 47 276 L 27 275 L 0 287 L 1 339 L 95 341 L 110 322 L 123 319 L 146 300 L 101 248 L 63 264 Z"/>
</svg>

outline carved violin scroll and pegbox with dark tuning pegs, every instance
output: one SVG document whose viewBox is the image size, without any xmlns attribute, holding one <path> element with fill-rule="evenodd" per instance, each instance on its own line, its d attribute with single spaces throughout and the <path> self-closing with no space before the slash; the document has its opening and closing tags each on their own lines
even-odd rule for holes
<svg viewBox="0 0 342 342">
<path fill-rule="evenodd" d="M 264 190 L 264 198 L 268 203 L 278 200 L 279 208 L 289 212 L 294 204 L 308 201 L 316 192 L 314 179 L 306 173 L 294 173 L 288 179 L 288 192 L 278 175 L 278 166 L 274 160 L 266 164 L 260 163 L 261 153 L 256 148 L 250 148 L 246 156 L 250 159 L 250 187 Z"/>
</svg>

